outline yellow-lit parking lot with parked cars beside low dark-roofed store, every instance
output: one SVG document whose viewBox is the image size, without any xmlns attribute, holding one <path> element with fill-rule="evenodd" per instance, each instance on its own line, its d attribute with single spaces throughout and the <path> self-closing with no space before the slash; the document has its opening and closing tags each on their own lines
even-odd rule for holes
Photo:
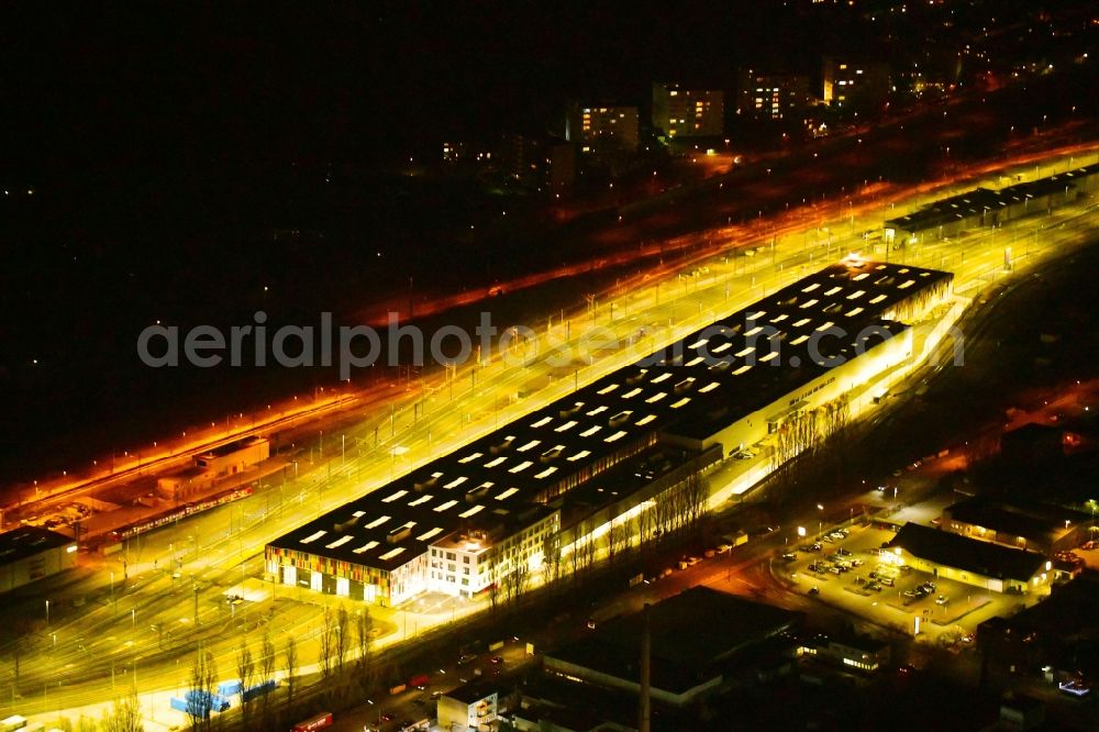
<svg viewBox="0 0 1099 732">
<path fill-rule="evenodd" d="M 821 541 L 806 537 L 773 563 L 775 574 L 806 592 L 879 625 L 943 642 L 966 636 L 993 615 L 1018 611 L 1035 598 L 990 592 L 980 587 L 935 578 L 908 566 L 880 561 L 891 531 L 853 526 L 843 535 L 824 530 Z"/>
</svg>

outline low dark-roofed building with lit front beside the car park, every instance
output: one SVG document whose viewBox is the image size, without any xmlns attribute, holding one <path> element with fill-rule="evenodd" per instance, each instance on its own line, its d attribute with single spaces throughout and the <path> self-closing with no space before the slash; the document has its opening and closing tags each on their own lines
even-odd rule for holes
<svg viewBox="0 0 1099 732">
<path fill-rule="evenodd" d="M 882 551 L 882 561 L 907 564 L 995 592 L 1034 591 L 1053 580 L 1053 563 L 1036 552 L 1008 548 L 948 531 L 906 523 Z"/>
</svg>

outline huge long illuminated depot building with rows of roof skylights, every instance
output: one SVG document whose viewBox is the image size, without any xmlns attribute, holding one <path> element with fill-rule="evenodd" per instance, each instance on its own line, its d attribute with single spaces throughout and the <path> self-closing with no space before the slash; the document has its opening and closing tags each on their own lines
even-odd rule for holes
<svg viewBox="0 0 1099 732">
<path fill-rule="evenodd" d="M 533 577 L 548 552 L 663 515 L 743 446 L 906 363 L 904 321 L 947 302 L 952 281 L 825 267 L 280 536 L 268 576 L 382 605 Z"/>
</svg>

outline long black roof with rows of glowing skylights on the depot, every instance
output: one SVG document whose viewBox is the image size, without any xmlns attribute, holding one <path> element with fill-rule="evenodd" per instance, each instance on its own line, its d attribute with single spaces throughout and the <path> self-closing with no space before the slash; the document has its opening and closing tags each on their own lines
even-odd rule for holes
<svg viewBox="0 0 1099 732">
<path fill-rule="evenodd" d="M 390 570 L 455 531 L 521 530 L 662 430 L 731 424 L 814 379 L 829 366 L 810 357 L 813 334 L 842 329 L 819 350 L 850 358 L 903 331 L 887 318 L 951 277 L 877 262 L 825 267 L 270 545 Z"/>
</svg>

